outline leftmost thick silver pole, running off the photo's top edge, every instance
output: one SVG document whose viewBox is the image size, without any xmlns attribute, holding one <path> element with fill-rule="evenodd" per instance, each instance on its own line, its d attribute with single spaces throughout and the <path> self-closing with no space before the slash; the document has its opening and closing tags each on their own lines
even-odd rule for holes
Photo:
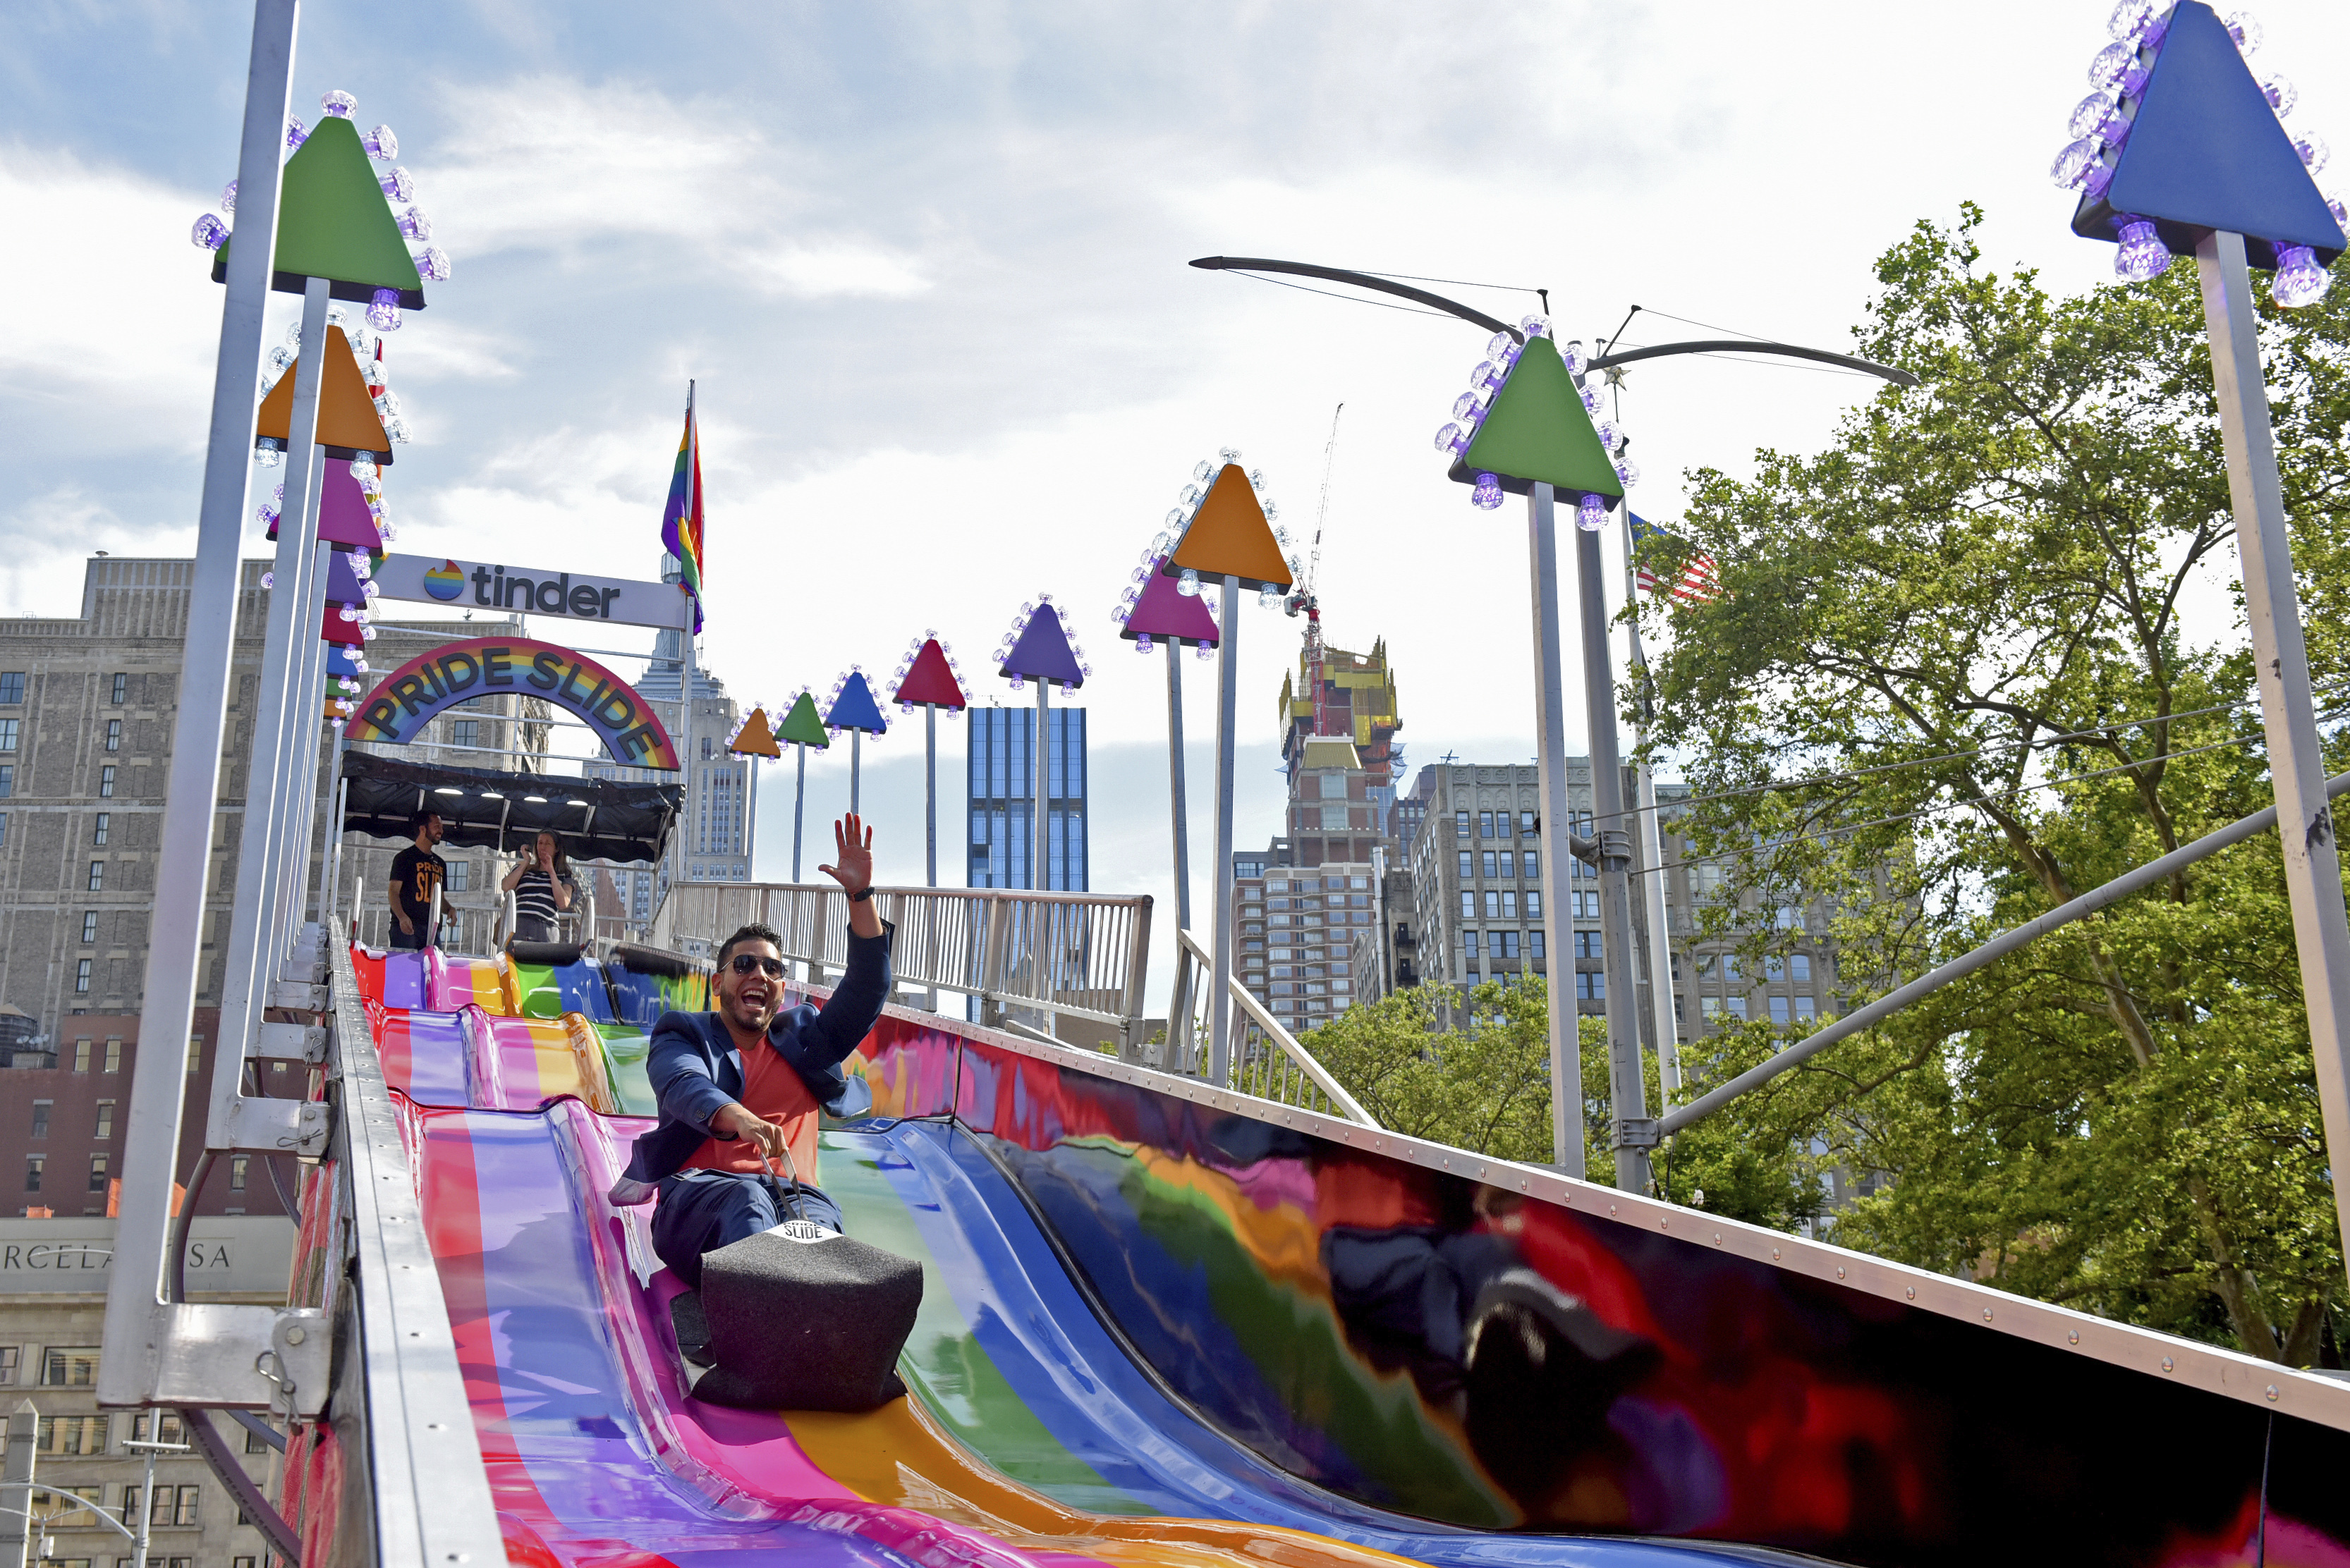
<svg viewBox="0 0 2350 1568">
<path fill-rule="evenodd" d="M 212 863 L 214 790 L 221 776 L 221 729 L 228 708 L 228 661 L 237 637 L 237 541 L 251 480 L 254 409 L 261 381 L 261 324 L 277 261 L 277 160 L 284 146 L 287 89 L 294 75 L 298 0 L 256 0 L 244 75 L 244 127 L 237 146 L 237 228 L 221 303 L 221 350 L 212 374 L 212 433 L 197 512 L 195 571 L 179 715 L 172 724 L 172 776 L 164 792 L 162 851 L 155 863 L 155 912 L 141 1039 L 148 1070 L 132 1077 L 125 1133 L 122 1206 L 115 1267 L 106 1293 L 106 1352 L 99 1401 L 146 1403 L 162 1352 L 164 1234 L 172 1225 L 172 1168 L 186 1074 L 181 1041 L 195 1023 L 195 971 L 204 940 L 204 875 Z M 310 355 L 313 360 L 317 355 Z M 280 534 L 284 527 L 280 522 Z M 31 1443 L 26 1443 L 31 1448 Z M 141 1566 L 143 1568 L 143 1566 Z"/>
</svg>

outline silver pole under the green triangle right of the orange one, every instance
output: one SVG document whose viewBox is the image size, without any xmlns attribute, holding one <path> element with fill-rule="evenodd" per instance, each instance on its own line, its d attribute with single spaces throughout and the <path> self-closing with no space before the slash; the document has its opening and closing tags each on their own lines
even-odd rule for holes
<svg viewBox="0 0 2350 1568">
<path fill-rule="evenodd" d="M 1567 811 L 1567 696 L 1565 649 L 1558 630 L 1558 515 L 1549 484 L 1525 496 L 1528 564 L 1535 578 L 1535 729 L 1537 785 L 1542 790 L 1542 905 L 1551 990 L 1551 1164 L 1584 1178 L 1584 1056 L 1574 1034 L 1574 919 L 1567 910 L 1567 849 L 1574 813 Z"/>
</svg>

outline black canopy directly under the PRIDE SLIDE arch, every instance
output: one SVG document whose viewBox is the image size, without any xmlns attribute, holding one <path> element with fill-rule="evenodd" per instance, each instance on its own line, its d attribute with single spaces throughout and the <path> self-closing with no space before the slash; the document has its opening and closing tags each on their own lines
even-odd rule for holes
<svg viewBox="0 0 2350 1568">
<path fill-rule="evenodd" d="M 444 769 L 374 752 L 343 752 L 343 832 L 407 839 L 409 816 L 437 811 L 444 842 L 515 849 L 555 832 L 580 860 L 653 865 L 684 806 L 684 785 L 555 778 L 496 769 Z"/>
</svg>

